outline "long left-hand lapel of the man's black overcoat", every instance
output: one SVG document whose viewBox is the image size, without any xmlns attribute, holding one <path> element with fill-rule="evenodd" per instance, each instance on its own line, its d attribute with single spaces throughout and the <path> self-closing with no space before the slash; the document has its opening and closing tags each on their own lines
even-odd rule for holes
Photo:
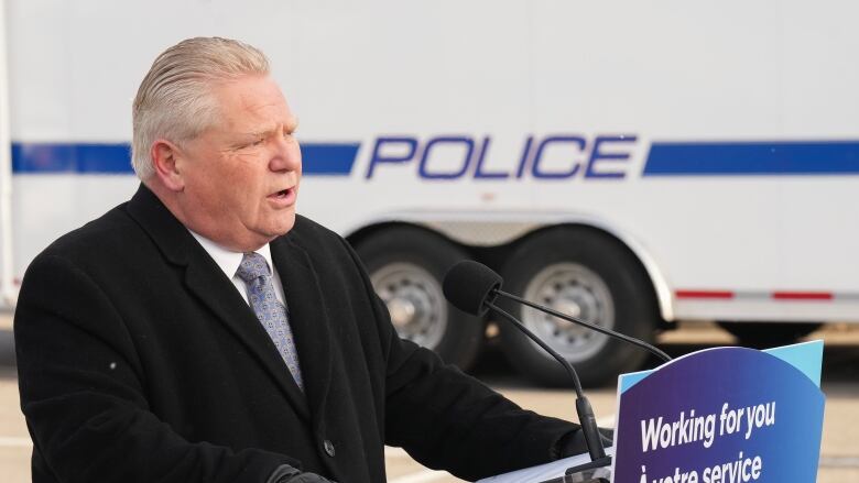
<svg viewBox="0 0 859 483">
<path fill-rule="evenodd" d="M 296 413 L 309 420 L 307 399 L 292 378 L 265 329 L 188 230 L 143 185 L 129 202 L 129 213 L 152 237 L 171 263 L 185 267 L 184 283 L 188 290 L 248 347 L 248 352 L 274 378 Z M 298 356 L 302 358 L 301 347 Z"/>
</svg>

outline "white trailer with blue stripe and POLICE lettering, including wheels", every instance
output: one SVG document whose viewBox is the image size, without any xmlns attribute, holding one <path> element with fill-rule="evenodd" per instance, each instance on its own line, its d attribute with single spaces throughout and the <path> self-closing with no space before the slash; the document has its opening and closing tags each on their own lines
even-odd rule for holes
<svg viewBox="0 0 859 483">
<path fill-rule="evenodd" d="M 509 292 L 643 339 L 677 320 L 733 322 L 752 343 L 859 322 L 855 2 L 6 0 L 3 11 L 10 306 L 39 251 L 135 189 L 131 99 L 155 55 L 220 35 L 268 53 L 301 118 L 298 211 L 352 242 L 401 334 L 463 366 L 487 321 L 448 307 L 439 282 L 464 257 L 498 270 Z M 586 382 L 645 358 L 511 309 Z M 503 325 L 500 337 L 517 367 L 564 384 L 536 345 Z"/>
</svg>

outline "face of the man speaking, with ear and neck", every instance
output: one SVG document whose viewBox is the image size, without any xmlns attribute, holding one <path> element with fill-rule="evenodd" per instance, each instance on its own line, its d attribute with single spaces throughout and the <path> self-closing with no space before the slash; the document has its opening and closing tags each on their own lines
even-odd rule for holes
<svg viewBox="0 0 859 483">
<path fill-rule="evenodd" d="M 252 251 L 295 222 L 302 156 L 297 125 L 268 76 L 244 76 L 213 89 L 220 118 L 184 143 L 176 169 L 184 182 L 182 221 L 236 251 Z"/>
</svg>

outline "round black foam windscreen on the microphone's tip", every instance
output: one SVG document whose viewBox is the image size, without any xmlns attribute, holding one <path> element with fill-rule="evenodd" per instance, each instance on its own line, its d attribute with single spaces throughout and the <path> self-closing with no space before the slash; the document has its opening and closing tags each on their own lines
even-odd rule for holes
<svg viewBox="0 0 859 483">
<path fill-rule="evenodd" d="M 447 301 L 475 316 L 486 314 L 488 308 L 485 303 L 492 297 L 492 290 L 500 287 L 501 275 L 472 260 L 464 260 L 452 266 L 442 284 Z"/>
</svg>

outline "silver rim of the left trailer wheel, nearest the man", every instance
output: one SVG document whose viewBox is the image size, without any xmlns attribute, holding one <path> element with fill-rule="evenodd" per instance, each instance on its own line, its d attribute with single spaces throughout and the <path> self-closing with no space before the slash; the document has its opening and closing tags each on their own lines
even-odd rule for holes
<svg viewBox="0 0 859 483">
<path fill-rule="evenodd" d="M 447 303 L 430 272 L 411 263 L 393 263 L 373 272 L 370 281 L 401 338 L 430 349 L 438 347 L 447 329 Z"/>
</svg>

